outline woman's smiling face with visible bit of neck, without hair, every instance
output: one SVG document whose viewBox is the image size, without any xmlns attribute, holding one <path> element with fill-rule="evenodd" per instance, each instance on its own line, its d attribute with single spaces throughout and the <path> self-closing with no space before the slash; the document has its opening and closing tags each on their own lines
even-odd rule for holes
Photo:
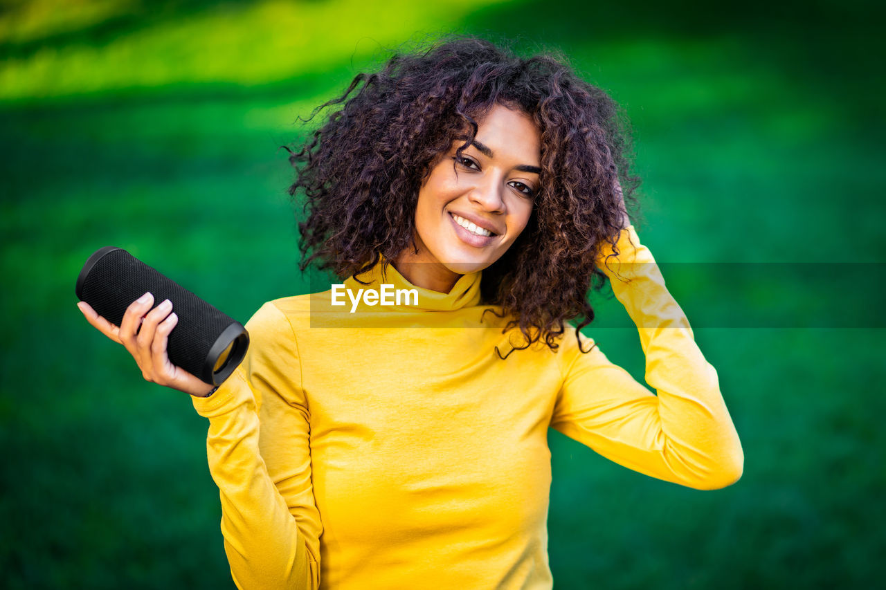
<svg viewBox="0 0 886 590">
<path fill-rule="evenodd" d="M 526 227 L 540 189 L 541 134 L 525 113 L 495 105 L 432 168 L 418 191 L 416 246 L 395 260 L 417 286 L 448 292 L 459 276 L 489 267 Z M 453 167 L 455 164 L 455 167 Z"/>
</svg>

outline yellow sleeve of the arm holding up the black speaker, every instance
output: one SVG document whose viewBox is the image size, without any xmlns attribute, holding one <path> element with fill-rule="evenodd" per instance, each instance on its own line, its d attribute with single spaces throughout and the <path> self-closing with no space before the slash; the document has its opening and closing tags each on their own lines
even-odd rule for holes
<svg viewBox="0 0 886 590">
<path fill-rule="evenodd" d="M 212 396 L 206 453 L 221 496 L 221 532 L 239 588 L 317 588 L 320 516 L 311 484 L 298 346 L 273 303 L 246 324 L 245 361 Z"/>
</svg>

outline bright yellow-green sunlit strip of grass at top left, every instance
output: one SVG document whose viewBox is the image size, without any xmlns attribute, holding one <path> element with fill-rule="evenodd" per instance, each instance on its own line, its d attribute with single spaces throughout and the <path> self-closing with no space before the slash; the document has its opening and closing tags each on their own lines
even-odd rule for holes
<svg viewBox="0 0 886 590">
<path fill-rule="evenodd" d="M 54 17 L 47 3 L 35 4 L 30 11 L 26 5 L 0 21 L 0 35 L 14 56 L 0 66 L 0 99 L 182 82 L 274 82 L 352 59 L 365 61 L 382 48 L 403 43 L 414 31 L 443 32 L 478 7 L 495 2 L 265 0 L 192 8 L 184 4 L 188 10 L 176 12 L 152 12 L 151 3 L 107 2 L 90 11 L 85 8 L 89 4 L 78 6 L 67 12 L 72 17 L 68 21 Z M 82 36 L 66 36 L 63 44 L 52 43 L 51 36 L 40 43 L 41 33 L 76 31 L 77 26 L 112 16 L 119 22 L 119 34 L 112 29 L 96 39 L 87 29 Z M 26 39 L 30 45 L 21 49 Z"/>
</svg>

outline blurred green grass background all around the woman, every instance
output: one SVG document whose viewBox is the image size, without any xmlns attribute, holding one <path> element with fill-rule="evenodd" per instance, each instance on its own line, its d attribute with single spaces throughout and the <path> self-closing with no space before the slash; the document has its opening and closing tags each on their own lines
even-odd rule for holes
<svg viewBox="0 0 886 590">
<path fill-rule="evenodd" d="M 206 420 L 89 327 L 74 279 L 90 252 L 119 245 L 243 321 L 307 291 L 278 146 L 389 48 L 447 32 L 562 50 L 625 106 L 641 237 L 658 260 L 820 263 L 788 299 L 765 285 L 703 296 L 734 301 L 726 313 L 739 318 L 696 326 L 742 437 L 737 485 L 665 484 L 551 433 L 556 587 L 877 585 L 882 291 L 847 306 L 858 290 L 833 270 L 886 262 L 879 6 L 2 0 L 0 11 L 4 587 L 232 587 Z M 861 309 L 879 328 L 743 326 L 747 309 L 794 297 L 834 317 Z M 642 379 L 635 330 L 587 332 Z"/>
</svg>

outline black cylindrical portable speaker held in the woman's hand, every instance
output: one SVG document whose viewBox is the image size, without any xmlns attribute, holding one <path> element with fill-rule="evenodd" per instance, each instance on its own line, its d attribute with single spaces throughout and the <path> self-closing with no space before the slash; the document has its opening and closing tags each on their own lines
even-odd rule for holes
<svg viewBox="0 0 886 590">
<path fill-rule="evenodd" d="M 214 385 L 237 369 L 249 346 L 246 329 L 129 252 L 113 246 L 100 248 L 77 277 L 77 298 L 116 326 L 126 308 L 147 291 L 154 296 L 155 306 L 169 299 L 178 315 L 169 333 L 169 361 Z"/>
</svg>

